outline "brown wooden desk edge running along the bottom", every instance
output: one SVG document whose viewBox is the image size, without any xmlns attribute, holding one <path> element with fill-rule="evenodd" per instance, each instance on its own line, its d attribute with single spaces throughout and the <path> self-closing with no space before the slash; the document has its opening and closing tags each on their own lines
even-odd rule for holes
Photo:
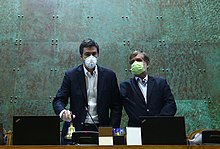
<svg viewBox="0 0 220 149">
<path fill-rule="evenodd" d="M 219 146 L 143 145 L 143 146 L 0 146 L 0 149 L 220 149 Z"/>
</svg>

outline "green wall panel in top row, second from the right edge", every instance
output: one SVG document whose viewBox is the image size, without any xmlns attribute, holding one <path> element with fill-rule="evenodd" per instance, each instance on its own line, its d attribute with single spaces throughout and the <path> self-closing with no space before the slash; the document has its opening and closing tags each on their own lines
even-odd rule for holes
<svg viewBox="0 0 220 149">
<path fill-rule="evenodd" d="M 193 18 L 192 1 L 161 0 L 161 38 L 167 43 L 192 43 L 195 39 Z"/>
</svg>

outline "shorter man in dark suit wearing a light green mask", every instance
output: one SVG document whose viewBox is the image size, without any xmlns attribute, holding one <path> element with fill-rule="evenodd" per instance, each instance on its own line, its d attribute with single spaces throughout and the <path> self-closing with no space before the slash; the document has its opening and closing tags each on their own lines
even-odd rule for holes
<svg viewBox="0 0 220 149">
<path fill-rule="evenodd" d="M 176 103 L 167 81 L 148 75 L 149 57 L 137 50 L 130 55 L 134 77 L 120 84 L 128 126 L 140 126 L 140 116 L 173 116 Z"/>
</svg>

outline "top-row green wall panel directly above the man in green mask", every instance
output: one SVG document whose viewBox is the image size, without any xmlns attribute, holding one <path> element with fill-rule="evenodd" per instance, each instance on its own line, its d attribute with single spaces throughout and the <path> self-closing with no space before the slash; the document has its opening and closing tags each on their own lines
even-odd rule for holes
<svg viewBox="0 0 220 149">
<path fill-rule="evenodd" d="M 127 34 L 131 45 L 136 48 L 136 43 L 145 41 L 153 43 L 158 41 L 161 33 L 159 1 L 130 1 L 127 8 Z"/>
</svg>

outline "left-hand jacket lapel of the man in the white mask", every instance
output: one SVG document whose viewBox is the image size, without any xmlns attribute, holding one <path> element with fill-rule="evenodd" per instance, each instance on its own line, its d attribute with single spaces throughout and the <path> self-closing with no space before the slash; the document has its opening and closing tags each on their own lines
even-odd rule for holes
<svg viewBox="0 0 220 149">
<path fill-rule="evenodd" d="M 84 100 L 86 101 L 86 103 L 88 103 L 87 94 L 86 94 L 85 73 L 84 73 L 84 70 L 83 70 L 83 65 L 80 65 L 77 70 L 78 70 L 78 77 L 77 77 L 78 78 L 78 85 L 81 88 Z"/>
</svg>

